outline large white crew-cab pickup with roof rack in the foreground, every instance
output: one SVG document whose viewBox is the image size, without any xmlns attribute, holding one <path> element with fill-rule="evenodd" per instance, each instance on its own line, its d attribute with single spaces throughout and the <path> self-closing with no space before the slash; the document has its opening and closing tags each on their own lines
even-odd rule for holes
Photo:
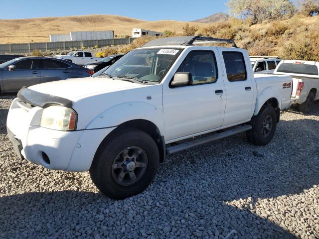
<svg viewBox="0 0 319 239">
<path fill-rule="evenodd" d="M 233 47 L 196 45 L 203 42 Z M 7 131 L 19 156 L 48 169 L 89 170 L 103 194 L 123 199 L 148 187 L 165 155 L 241 132 L 269 143 L 291 87 L 291 76 L 254 77 L 233 40 L 160 38 L 98 77 L 21 89 Z"/>
</svg>

